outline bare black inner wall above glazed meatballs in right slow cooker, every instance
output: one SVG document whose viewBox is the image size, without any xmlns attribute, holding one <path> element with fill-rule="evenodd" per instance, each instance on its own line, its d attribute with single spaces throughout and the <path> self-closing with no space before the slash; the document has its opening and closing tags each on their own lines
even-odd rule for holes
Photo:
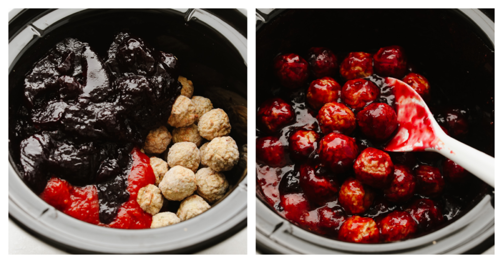
<svg viewBox="0 0 503 263">
<path fill-rule="evenodd" d="M 468 109 L 470 132 L 462 141 L 494 156 L 494 46 L 462 12 L 297 9 L 259 16 L 266 23 L 257 23 L 257 107 L 281 93 L 272 68 L 279 53 L 306 58 L 313 46 L 344 54 L 400 45 L 408 61 L 432 84 L 430 107 L 447 104 Z"/>
</svg>

